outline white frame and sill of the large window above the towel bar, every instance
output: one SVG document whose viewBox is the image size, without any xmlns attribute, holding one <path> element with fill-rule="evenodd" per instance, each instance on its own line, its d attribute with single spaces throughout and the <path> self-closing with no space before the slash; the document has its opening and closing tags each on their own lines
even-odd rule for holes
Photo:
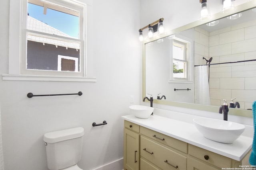
<svg viewBox="0 0 256 170">
<path fill-rule="evenodd" d="M 51 0 L 49 0 L 51 1 Z M 9 23 L 9 73 L 2 74 L 3 80 L 38 80 L 38 81 L 79 81 L 79 82 L 96 82 L 93 77 L 93 63 L 92 63 L 92 0 L 54 0 L 60 3 L 80 4 L 84 7 L 83 23 L 84 23 L 84 69 L 81 70 L 82 75 L 75 76 L 72 74 L 63 75 L 44 75 L 44 74 L 28 74 L 22 72 L 22 55 L 24 46 L 22 43 L 22 22 L 24 22 L 24 15 L 22 12 L 27 11 L 27 0 L 10 0 L 10 23 Z M 26 21 L 26 20 L 25 20 Z M 24 25 L 24 23 L 23 23 Z M 82 47 L 81 47 L 82 48 Z M 24 61 L 23 61 L 24 62 Z M 70 73 L 70 72 L 65 72 Z"/>
</svg>

